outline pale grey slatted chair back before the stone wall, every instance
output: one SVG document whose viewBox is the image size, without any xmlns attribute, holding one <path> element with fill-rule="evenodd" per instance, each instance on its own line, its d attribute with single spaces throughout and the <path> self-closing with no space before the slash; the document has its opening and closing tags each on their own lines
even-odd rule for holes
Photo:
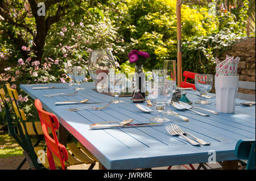
<svg viewBox="0 0 256 181">
<path fill-rule="evenodd" d="M 238 88 L 255 90 L 255 82 L 239 81 Z M 243 100 L 255 101 L 254 94 L 238 93 L 237 98 L 243 99 Z"/>
</svg>

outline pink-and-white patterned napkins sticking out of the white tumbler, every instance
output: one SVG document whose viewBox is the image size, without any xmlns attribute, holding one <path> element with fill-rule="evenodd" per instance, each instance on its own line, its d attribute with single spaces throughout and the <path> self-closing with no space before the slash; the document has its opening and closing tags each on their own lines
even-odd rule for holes
<svg viewBox="0 0 256 181">
<path fill-rule="evenodd" d="M 237 68 L 240 62 L 239 57 L 234 59 L 234 57 L 226 55 L 226 60 L 222 62 L 216 57 L 216 62 L 216 77 L 218 77 L 218 75 L 237 76 Z"/>
</svg>

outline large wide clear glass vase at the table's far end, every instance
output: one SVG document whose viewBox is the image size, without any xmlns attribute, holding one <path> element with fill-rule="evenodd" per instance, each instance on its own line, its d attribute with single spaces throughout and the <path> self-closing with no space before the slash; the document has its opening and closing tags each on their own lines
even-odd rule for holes
<svg viewBox="0 0 256 181">
<path fill-rule="evenodd" d="M 98 82 L 101 82 L 101 79 L 97 79 L 97 74 L 114 73 L 115 60 L 111 50 L 108 50 L 108 49 L 93 50 L 90 53 L 90 57 L 89 57 L 88 71 L 89 71 L 90 77 L 96 83 L 96 87 Z"/>
</svg>

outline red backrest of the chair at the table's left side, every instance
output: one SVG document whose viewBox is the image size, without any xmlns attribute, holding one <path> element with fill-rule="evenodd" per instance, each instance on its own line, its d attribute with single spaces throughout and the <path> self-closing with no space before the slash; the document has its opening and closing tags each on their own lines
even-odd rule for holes
<svg viewBox="0 0 256 181">
<path fill-rule="evenodd" d="M 65 169 L 64 162 L 68 159 L 68 151 L 64 145 L 61 145 L 57 139 L 56 130 L 59 129 L 59 121 L 53 113 L 44 111 L 39 99 L 35 100 L 35 107 L 38 110 L 44 137 L 47 145 L 47 158 L 51 170 L 56 169 L 53 160 L 53 154 L 60 159 L 62 169 Z M 48 129 L 51 129 L 52 136 L 49 136 Z"/>
</svg>

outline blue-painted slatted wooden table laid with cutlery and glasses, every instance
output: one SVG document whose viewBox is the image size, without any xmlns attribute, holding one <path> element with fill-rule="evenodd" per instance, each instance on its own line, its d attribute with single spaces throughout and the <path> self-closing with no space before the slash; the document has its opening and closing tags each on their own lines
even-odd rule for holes
<svg viewBox="0 0 256 181">
<path fill-rule="evenodd" d="M 220 113 L 204 117 L 192 111 L 177 111 L 188 117 L 185 122 L 175 116 L 167 116 L 171 123 L 177 123 L 185 132 L 189 132 L 207 142 L 208 146 L 192 146 L 183 137 L 173 137 L 168 134 L 164 125 L 155 127 L 137 127 L 121 129 L 89 129 L 89 125 L 104 121 L 121 122 L 133 119 L 133 123 L 148 123 L 155 113 L 144 113 L 135 107 L 130 97 L 123 97 L 123 104 L 110 104 L 101 111 L 84 110 L 68 112 L 67 108 L 81 105 L 55 106 L 55 102 L 65 100 L 90 99 L 92 102 L 109 102 L 112 96 L 100 94 L 94 88 L 94 82 L 82 83 L 85 90 L 73 96 L 55 96 L 47 98 L 43 95 L 57 92 L 75 92 L 74 86 L 65 83 L 49 84 L 56 87 L 67 86 L 69 89 L 32 90 L 32 87 L 21 85 L 32 99 L 40 99 L 43 108 L 55 113 L 60 124 L 77 138 L 106 169 L 143 169 L 159 166 L 181 165 L 188 163 L 204 163 L 209 157 L 216 154 L 216 161 L 236 160 L 234 149 L 240 139 L 255 138 L 255 106 L 236 106 L 235 113 Z M 196 91 L 186 91 L 187 97 L 193 103 L 199 99 Z M 212 104 L 198 107 L 216 110 L 215 100 L 209 99 Z M 238 99 L 237 103 L 243 102 Z M 145 103 L 146 104 L 146 103 Z M 88 104 L 91 105 L 91 104 Z M 103 106 L 105 104 L 93 104 Z M 197 110 L 204 112 L 201 110 Z M 209 113 L 209 112 L 204 112 Z"/>
</svg>

